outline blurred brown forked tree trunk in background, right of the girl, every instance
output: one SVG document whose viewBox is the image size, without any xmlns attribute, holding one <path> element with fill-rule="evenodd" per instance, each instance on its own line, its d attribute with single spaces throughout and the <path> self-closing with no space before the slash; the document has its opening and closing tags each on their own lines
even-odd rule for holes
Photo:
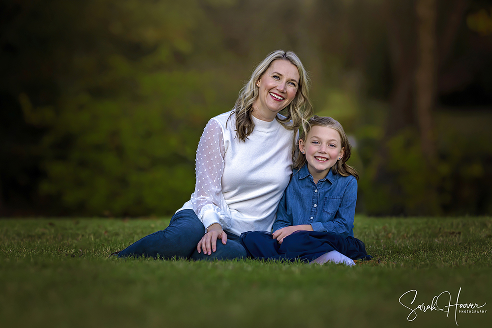
<svg viewBox="0 0 492 328">
<path fill-rule="evenodd" d="M 379 161 L 373 163 L 377 167 L 373 183 L 379 190 L 373 195 L 400 198 L 393 203 L 394 214 L 441 213 L 438 186 L 443 177 L 438 168 L 433 122 L 436 85 L 467 5 L 467 0 L 441 2 L 440 7 L 435 0 L 384 3 L 394 87 Z M 442 40 L 441 44 L 437 40 Z M 408 158 L 405 152 L 413 157 Z M 396 165 L 397 157 L 406 158 L 406 164 Z M 379 204 L 371 202 L 370 197 L 369 203 Z M 388 210 L 371 210 L 381 209 Z"/>
</svg>

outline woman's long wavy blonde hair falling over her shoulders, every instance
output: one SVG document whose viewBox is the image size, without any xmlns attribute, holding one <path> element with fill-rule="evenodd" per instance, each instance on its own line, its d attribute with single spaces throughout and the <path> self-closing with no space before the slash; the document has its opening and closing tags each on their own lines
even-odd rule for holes
<svg viewBox="0 0 492 328">
<path fill-rule="evenodd" d="M 284 118 L 277 116 L 277 121 L 288 130 L 297 130 L 307 121 L 307 118 L 312 116 L 312 106 L 309 101 L 310 80 L 303 63 L 292 51 L 274 51 L 262 60 L 253 70 L 249 81 L 239 92 L 239 98 L 236 100 L 234 110 L 231 113 L 231 117 L 232 115 L 236 116 L 236 137 L 243 142 L 246 141 L 247 137 L 254 129 L 251 111 L 253 110 L 253 103 L 258 98 L 259 88 L 256 86 L 256 82 L 270 67 L 272 62 L 278 59 L 288 60 L 297 67 L 297 70 L 299 71 L 299 84 L 296 97 L 286 108 L 282 109 Z M 290 122 L 291 120 L 292 123 Z"/>
</svg>

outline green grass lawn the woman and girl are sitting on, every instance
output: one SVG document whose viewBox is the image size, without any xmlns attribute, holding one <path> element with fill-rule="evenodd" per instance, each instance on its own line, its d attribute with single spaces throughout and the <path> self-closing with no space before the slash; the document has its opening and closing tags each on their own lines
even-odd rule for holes
<svg viewBox="0 0 492 328">
<path fill-rule="evenodd" d="M 355 237 L 374 260 L 355 267 L 107 258 L 168 223 L 1 219 L 0 326 L 490 327 L 491 217 L 358 216 Z M 401 297 L 411 309 L 449 292 L 438 308 L 487 313 L 412 315 L 399 302 L 411 290 L 413 304 L 415 292 Z"/>
</svg>

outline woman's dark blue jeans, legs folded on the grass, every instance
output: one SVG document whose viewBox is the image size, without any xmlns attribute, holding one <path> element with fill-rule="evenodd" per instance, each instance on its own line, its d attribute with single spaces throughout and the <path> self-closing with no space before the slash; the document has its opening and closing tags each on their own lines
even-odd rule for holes
<svg viewBox="0 0 492 328">
<path fill-rule="evenodd" d="M 217 250 L 211 255 L 196 250 L 198 241 L 205 234 L 203 223 L 191 209 L 183 209 L 173 215 L 169 226 L 154 232 L 123 249 L 118 257 L 145 256 L 155 259 L 190 258 L 192 260 L 232 260 L 246 258 L 246 249 L 239 236 L 227 233 L 224 245 L 217 239 Z"/>
</svg>

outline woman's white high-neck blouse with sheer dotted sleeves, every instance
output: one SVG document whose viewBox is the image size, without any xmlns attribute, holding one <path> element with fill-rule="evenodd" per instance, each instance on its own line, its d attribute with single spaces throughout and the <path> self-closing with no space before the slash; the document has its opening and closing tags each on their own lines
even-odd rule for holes
<svg viewBox="0 0 492 328">
<path fill-rule="evenodd" d="M 236 138 L 231 112 L 211 119 L 196 152 L 196 185 L 179 209 L 193 209 L 205 228 L 219 223 L 236 235 L 271 231 L 292 173 L 295 130 L 252 117 L 246 142 Z"/>
</svg>

